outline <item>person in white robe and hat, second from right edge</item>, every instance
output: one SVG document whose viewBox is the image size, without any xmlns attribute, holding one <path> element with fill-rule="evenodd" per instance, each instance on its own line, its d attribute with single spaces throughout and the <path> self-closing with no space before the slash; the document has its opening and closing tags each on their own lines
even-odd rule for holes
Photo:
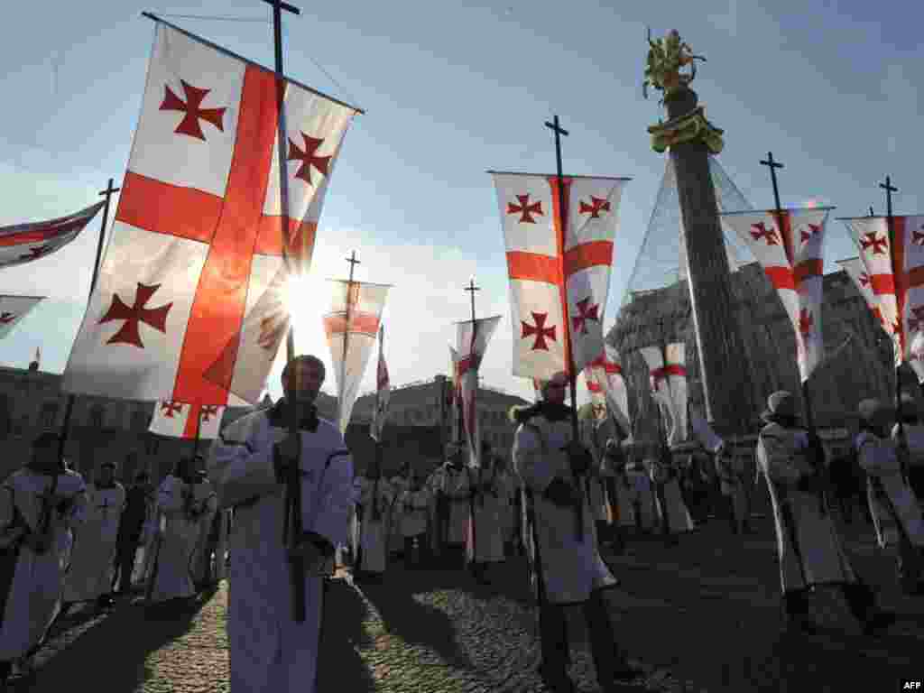
<svg viewBox="0 0 924 693">
<path fill-rule="evenodd" d="M 924 522 L 918 498 L 902 473 L 900 458 L 905 451 L 887 435 L 894 412 L 879 400 L 865 399 L 859 413 L 857 456 L 869 482 L 869 512 L 879 520 L 877 525 L 881 515 L 892 518 L 898 530 L 899 582 L 907 593 L 920 593 L 924 589 Z"/>
</svg>

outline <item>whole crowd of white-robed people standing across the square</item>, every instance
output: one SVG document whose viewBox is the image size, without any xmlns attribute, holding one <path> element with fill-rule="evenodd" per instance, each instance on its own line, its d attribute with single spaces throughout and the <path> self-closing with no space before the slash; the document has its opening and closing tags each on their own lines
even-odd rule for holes
<svg viewBox="0 0 924 693">
<path fill-rule="evenodd" d="M 337 566 L 362 581 L 388 579 L 389 567 L 468 569 L 481 585 L 492 565 L 526 555 L 541 615 L 541 676 L 571 690 L 565 606 L 582 604 L 604 690 L 638 675 L 617 643 L 602 592 L 618 585 L 603 556 L 622 553 L 635 532 L 668 543 L 706 517 L 748 531 L 754 468 L 714 435 L 699 450 L 673 455 L 663 445 L 630 445 L 583 419 L 574 436 L 563 374 L 542 383 L 542 398 L 511 412 L 513 466 L 487 444 L 480 467 L 451 444 L 446 461 L 386 478 L 378 460 L 354 474 L 336 426 L 313 407 L 322 362 L 294 360 L 286 396 L 225 428 L 207 458 L 180 460 L 156 487 L 141 472 L 128 488 L 102 456 L 91 481 L 58 456 L 43 433 L 30 460 L 0 490 L 0 679 L 28 667 L 55 619 L 73 604 L 111 608 L 114 596 L 143 591 L 151 605 L 188 602 L 229 580 L 231 689 L 313 690 L 325 578 Z M 298 410 L 298 436 L 287 429 Z M 918 502 L 924 426 L 914 403 L 860 406 L 855 455 L 868 478 L 869 513 L 882 546 L 899 547 L 903 588 L 922 593 L 924 523 Z M 830 460 L 804 429 L 789 393 L 774 393 L 756 449 L 775 523 L 782 596 L 789 623 L 812 629 L 811 601 L 839 590 L 868 633 L 894 616 L 876 606 L 857 575 L 832 517 Z M 287 480 L 301 479 L 301 533 L 284 542 Z M 704 505 L 705 504 L 705 505 Z M 304 574 L 293 579 L 293 556 Z M 298 589 L 294 585 L 302 582 Z M 302 591 L 305 613 L 293 613 Z"/>
</svg>

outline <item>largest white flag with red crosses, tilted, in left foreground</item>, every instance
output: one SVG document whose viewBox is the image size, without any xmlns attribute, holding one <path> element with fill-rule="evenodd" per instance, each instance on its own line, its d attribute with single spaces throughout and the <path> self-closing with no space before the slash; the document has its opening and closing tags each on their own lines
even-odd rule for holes
<svg viewBox="0 0 924 693">
<path fill-rule="evenodd" d="M 308 268 L 356 113 L 286 80 L 284 211 L 278 111 L 273 71 L 157 22 L 116 221 L 63 389 L 224 406 L 236 371 L 265 380 L 252 371 L 272 358 L 238 356 L 281 340 L 244 330 L 245 315 L 280 273 L 284 245 Z M 224 380 L 206 376 L 217 362 Z"/>
</svg>

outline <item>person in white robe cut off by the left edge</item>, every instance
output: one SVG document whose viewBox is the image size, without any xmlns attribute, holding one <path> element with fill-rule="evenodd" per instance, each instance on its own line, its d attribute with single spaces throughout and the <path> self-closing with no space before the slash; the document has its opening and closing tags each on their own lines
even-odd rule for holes
<svg viewBox="0 0 924 693">
<path fill-rule="evenodd" d="M 0 687 L 59 613 L 73 533 L 86 511 L 86 485 L 58 458 L 59 440 L 39 435 L 29 463 L 0 488 Z"/>
</svg>

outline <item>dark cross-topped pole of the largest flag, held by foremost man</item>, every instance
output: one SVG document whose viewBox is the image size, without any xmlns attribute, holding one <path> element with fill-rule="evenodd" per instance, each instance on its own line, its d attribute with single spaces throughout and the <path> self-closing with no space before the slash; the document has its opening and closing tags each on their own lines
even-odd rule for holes
<svg viewBox="0 0 924 693">
<path fill-rule="evenodd" d="M 286 168 L 286 82 L 283 71 L 283 10 L 291 12 L 294 15 L 300 15 L 298 7 L 288 5 L 281 0 L 263 0 L 264 3 L 273 6 L 273 43 L 275 57 L 276 73 L 276 155 L 279 159 L 279 202 L 280 202 L 280 233 L 282 234 L 283 261 L 286 263 L 286 270 L 289 276 L 292 276 L 295 267 L 293 267 L 292 258 L 289 256 L 289 217 L 288 217 L 288 171 Z M 292 326 L 291 316 L 289 318 L 289 329 L 286 334 L 286 365 L 295 359 L 295 329 Z M 298 372 L 293 374 L 296 379 L 294 383 L 295 390 L 298 390 Z M 288 405 L 288 435 L 292 439 L 298 439 L 298 409 L 295 398 Z M 293 618 L 296 623 L 305 622 L 305 559 L 296 552 L 292 551 L 298 547 L 298 541 L 304 533 L 305 528 L 301 517 L 301 451 L 297 449 L 298 456 L 295 463 L 288 469 L 286 478 L 286 505 L 283 517 L 283 543 L 288 546 L 289 551 L 289 578 L 292 584 L 292 605 Z"/>
</svg>

